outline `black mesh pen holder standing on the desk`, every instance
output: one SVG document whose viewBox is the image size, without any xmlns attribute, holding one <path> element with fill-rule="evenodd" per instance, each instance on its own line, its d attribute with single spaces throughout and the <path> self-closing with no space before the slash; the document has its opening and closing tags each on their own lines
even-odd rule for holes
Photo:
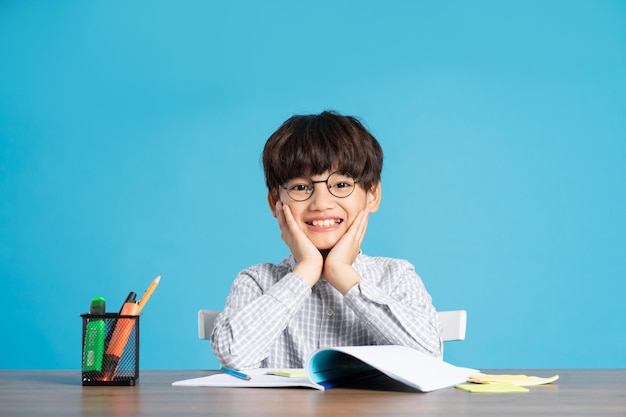
<svg viewBox="0 0 626 417">
<path fill-rule="evenodd" d="M 83 385 L 132 386 L 139 379 L 139 316 L 81 314 Z"/>
</svg>

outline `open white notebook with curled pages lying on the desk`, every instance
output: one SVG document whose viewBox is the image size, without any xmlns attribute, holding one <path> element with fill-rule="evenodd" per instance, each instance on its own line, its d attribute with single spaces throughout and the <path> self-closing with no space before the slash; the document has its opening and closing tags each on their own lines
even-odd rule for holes
<svg viewBox="0 0 626 417">
<path fill-rule="evenodd" d="M 295 377 L 273 374 L 276 371 Z M 309 387 L 324 390 L 339 386 L 387 389 L 400 384 L 428 392 L 465 382 L 477 372 L 476 369 L 454 366 L 405 346 L 348 346 L 318 349 L 309 357 L 303 370 L 261 368 L 245 371 L 250 380 L 220 373 L 177 381 L 172 385 Z"/>
</svg>

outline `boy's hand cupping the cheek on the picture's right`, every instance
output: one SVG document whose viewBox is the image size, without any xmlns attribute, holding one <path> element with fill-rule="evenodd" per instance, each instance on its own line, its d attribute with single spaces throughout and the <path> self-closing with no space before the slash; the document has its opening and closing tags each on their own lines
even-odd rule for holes
<svg viewBox="0 0 626 417">
<path fill-rule="evenodd" d="M 352 264 L 361 252 L 361 243 L 367 231 L 368 218 L 369 210 L 361 211 L 324 261 L 324 277 L 344 295 L 361 279 Z"/>
</svg>

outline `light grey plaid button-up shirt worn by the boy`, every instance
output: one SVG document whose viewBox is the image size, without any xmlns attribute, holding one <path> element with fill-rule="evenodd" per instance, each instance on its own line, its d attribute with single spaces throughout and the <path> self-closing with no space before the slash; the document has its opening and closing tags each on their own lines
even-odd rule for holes
<svg viewBox="0 0 626 417">
<path fill-rule="evenodd" d="M 289 256 L 237 275 L 211 334 L 222 365 L 303 368 L 329 346 L 404 345 L 442 356 L 435 308 L 409 262 L 360 254 L 353 267 L 361 280 L 345 296 L 323 277 L 309 288 L 294 267 Z"/>
</svg>

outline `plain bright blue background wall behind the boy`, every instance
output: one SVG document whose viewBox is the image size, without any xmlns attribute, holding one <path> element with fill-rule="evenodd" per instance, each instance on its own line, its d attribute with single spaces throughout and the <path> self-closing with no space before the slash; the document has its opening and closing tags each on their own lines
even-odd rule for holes
<svg viewBox="0 0 626 417">
<path fill-rule="evenodd" d="M 260 152 L 294 113 L 385 153 L 363 245 L 410 260 L 446 359 L 626 367 L 626 3 L 0 3 L 0 368 L 78 369 L 93 296 L 142 369 L 207 369 L 200 308 L 287 255 Z"/>
</svg>

